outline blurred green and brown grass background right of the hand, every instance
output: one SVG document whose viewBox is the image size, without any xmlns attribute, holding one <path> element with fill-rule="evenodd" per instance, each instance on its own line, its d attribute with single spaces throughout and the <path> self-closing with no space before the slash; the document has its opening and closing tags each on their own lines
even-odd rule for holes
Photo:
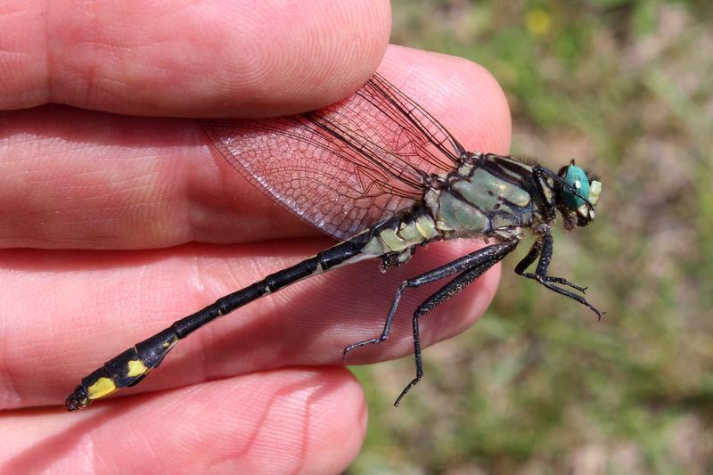
<svg viewBox="0 0 713 475">
<path fill-rule="evenodd" d="M 350 473 L 713 470 L 713 7 L 705 1 L 392 2 L 391 42 L 477 61 L 512 153 L 602 176 L 594 225 L 558 229 L 553 274 L 504 263 L 488 313 L 413 360 L 353 368 L 370 425 Z M 558 239 L 559 238 L 559 239 Z"/>
</svg>

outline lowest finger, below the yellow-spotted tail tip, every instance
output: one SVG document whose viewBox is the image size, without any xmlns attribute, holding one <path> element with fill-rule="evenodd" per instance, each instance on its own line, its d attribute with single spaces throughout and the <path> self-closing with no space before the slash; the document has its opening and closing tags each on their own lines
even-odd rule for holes
<svg viewBox="0 0 713 475">
<path fill-rule="evenodd" d="M 125 398 L 95 411 L 5 413 L 0 471 L 339 473 L 365 433 L 343 369 L 299 369 Z"/>
</svg>

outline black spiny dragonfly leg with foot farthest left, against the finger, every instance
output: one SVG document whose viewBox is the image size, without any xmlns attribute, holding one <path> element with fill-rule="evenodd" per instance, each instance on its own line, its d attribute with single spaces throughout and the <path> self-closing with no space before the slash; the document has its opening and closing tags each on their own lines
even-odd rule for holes
<svg viewBox="0 0 713 475">
<path fill-rule="evenodd" d="M 386 317 L 386 322 L 384 323 L 384 329 L 383 332 L 381 332 L 381 335 L 377 338 L 373 338 L 370 340 L 359 341 L 358 343 L 354 343 L 353 345 L 349 345 L 347 348 L 344 348 L 344 351 L 341 354 L 342 360 L 346 361 L 347 354 L 353 349 L 364 347 L 365 345 L 381 343 L 381 341 L 389 339 L 389 333 L 391 332 L 391 326 L 394 323 L 394 315 L 396 315 L 398 301 L 401 299 L 401 294 L 404 293 L 406 288 L 419 287 L 426 283 L 432 283 L 434 281 L 444 279 L 450 275 L 463 272 L 463 270 L 470 269 L 473 266 L 479 266 L 479 264 L 483 261 L 484 258 L 488 258 L 493 254 L 503 252 L 504 250 L 505 253 L 508 253 L 511 250 L 515 249 L 516 245 L 517 241 L 515 241 L 514 243 L 504 242 L 499 244 L 493 244 L 492 246 L 488 246 L 487 248 L 471 252 L 471 254 L 463 256 L 463 258 L 455 259 L 453 262 L 449 262 L 445 266 L 440 266 L 438 268 L 430 270 L 429 272 L 414 277 L 413 279 L 407 279 L 406 281 L 402 282 L 401 285 L 398 286 L 396 296 L 391 302 L 389 315 L 387 315 Z"/>
</svg>

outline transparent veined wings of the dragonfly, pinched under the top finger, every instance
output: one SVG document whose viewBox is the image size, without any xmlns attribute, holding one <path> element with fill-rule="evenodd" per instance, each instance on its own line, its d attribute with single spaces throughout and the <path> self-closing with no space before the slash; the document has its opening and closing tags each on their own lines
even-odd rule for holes
<svg viewBox="0 0 713 475">
<path fill-rule="evenodd" d="M 348 99 L 275 119 L 201 119 L 235 169 L 287 209 L 344 240 L 420 200 L 428 174 L 463 147 L 380 75 Z"/>
</svg>

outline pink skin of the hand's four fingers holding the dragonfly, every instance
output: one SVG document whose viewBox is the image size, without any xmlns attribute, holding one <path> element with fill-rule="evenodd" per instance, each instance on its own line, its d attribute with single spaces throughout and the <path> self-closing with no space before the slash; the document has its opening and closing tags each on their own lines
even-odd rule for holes
<svg viewBox="0 0 713 475">
<path fill-rule="evenodd" d="M 0 7 L 0 471 L 341 471 L 367 419 L 341 348 L 381 332 L 402 280 L 482 245 L 308 279 L 181 342 L 139 386 L 63 411 L 106 359 L 332 244 L 184 118 L 313 110 L 378 68 L 469 150 L 508 150 L 495 80 L 388 46 L 387 2 L 255 5 Z M 425 317 L 423 343 L 470 326 L 498 275 Z M 406 292 L 391 339 L 349 363 L 411 354 L 409 315 L 437 288 Z"/>
</svg>

